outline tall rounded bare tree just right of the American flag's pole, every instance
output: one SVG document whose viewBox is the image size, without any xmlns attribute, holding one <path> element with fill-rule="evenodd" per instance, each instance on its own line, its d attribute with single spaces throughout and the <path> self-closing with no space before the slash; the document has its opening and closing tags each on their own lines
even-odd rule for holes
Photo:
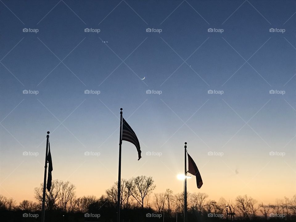
<svg viewBox="0 0 296 222">
<path fill-rule="evenodd" d="M 144 208 L 145 198 L 147 198 L 152 193 L 155 187 L 156 185 L 154 185 L 154 180 L 151 176 L 137 176 L 134 178 L 132 196 L 142 207 L 142 209 Z"/>
</svg>

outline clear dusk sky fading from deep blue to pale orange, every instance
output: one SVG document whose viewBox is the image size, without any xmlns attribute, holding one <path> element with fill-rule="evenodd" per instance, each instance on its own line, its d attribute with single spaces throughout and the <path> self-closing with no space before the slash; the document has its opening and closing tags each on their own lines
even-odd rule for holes
<svg viewBox="0 0 296 222">
<path fill-rule="evenodd" d="M 142 150 L 138 161 L 123 142 L 121 178 L 182 192 L 187 142 L 204 183 L 189 179 L 188 192 L 296 194 L 295 2 L 1 0 L 0 10 L 0 194 L 34 200 L 47 131 L 52 178 L 78 197 L 105 194 L 120 108 Z"/>
</svg>

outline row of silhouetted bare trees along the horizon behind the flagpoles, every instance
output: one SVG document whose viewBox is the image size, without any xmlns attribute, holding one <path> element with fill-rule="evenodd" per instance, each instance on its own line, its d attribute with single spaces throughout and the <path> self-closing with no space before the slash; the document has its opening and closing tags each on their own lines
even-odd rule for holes
<svg viewBox="0 0 296 222">
<path fill-rule="evenodd" d="M 155 187 L 150 176 L 121 180 L 120 205 L 124 221 L 160 221 L 160 217 L 164 221 L 183 221 L 184 193 L 174 194 L 170 189 L 153 193 Z M 19 204 L 12 198 L 0 195 L 0 211 L 6 217 L 10 216 L 7 221 L 14 221 L 10 212 L 19 212 L 20 217 L 22 212 L 40 213 L 43 184 L 35 187 L 34 192 L 35 202 L 23 200 Z M 276 199 L 273 204 L 263 204 L 247 195 L 239 195 L 234 201 L 227 201 L 223 197 L 216 201 L 209 199 L 206 193 L 187 193 L 187 204 L 188 221 L 225 220 L 227 211 L 235 214 L 235 220 L 296 221 L 296 194 L 290 198 Z M 51 218 L 48 221 L 85 221 L 88 220 L 85 217 L 87 213 L 96 213 L 97 218 L 94 219 L 97 221 L 116 221 L 116 206 L 117 182 L 99 198 L 93 195 L 77 197 L 74 184 L 57 179 L 52 181 L 51 190 L 46 191 L 45 209 Z M 147 215 L 156 215 L 156 218 Z M 28 218 L 22 219 L 29 221 Z"/>
</svg>

